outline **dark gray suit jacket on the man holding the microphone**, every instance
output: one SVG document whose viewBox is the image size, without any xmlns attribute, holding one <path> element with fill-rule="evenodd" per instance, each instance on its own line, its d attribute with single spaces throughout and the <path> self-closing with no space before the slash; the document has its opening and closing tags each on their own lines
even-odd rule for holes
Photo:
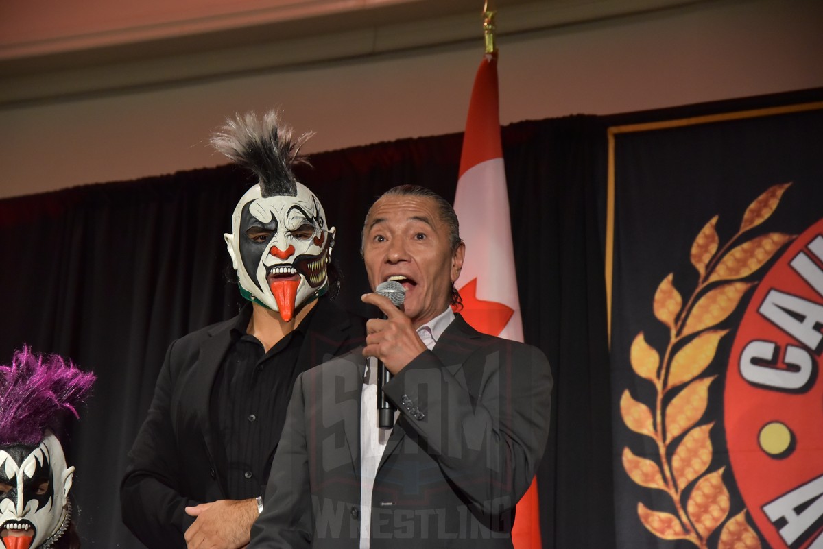
<svg viewBox="0 0 823 549">
<path fill-rule="evenodd" d="M 298 376 L 250 549 L 359 547 L 361 349 Z M 372 549 L 512 547 L 549 429 L 537 348 L 461 316 L 384 385 L 400 418 L 374 479 Z"/>
</svg>

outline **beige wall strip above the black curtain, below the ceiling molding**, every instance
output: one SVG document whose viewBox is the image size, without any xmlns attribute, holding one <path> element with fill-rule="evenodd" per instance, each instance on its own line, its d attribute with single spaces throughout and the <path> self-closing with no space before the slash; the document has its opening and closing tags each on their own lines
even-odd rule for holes
<svg viewBox="0 0 823 549">
<path fill-rule="evenodd" d="M 504 13 L 499 15 L 504 16 Z M 500 37 L 501 122 L 823 87 L 823 2 L 701 2 Z M 0 107 L 0 196 L 225 164 L 235 112 L 280 106 L 305 150 L 461 131 L 481 59 L 441 44 Z"/>
</svg>

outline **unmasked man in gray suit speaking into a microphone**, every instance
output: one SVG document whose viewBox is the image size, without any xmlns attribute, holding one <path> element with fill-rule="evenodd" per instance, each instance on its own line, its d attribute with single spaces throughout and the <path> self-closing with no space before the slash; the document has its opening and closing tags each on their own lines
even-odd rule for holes
<svg viewBox="0 0 823 549">
<path fill-rule="evenodd" d="M 512 547 L 546 445 L 551 373 L 537 348 L 473 330 L 449 304 L 465 245 L 447 201 L 395 187 L 371 207 L 372 288 L 397 280 L 364 348 L 298 376 L 250 548 Z M 366 358 L 370 358 L 367 360 Z M 378 426 L 374 360 L 397 408 Z"/>
</svg>

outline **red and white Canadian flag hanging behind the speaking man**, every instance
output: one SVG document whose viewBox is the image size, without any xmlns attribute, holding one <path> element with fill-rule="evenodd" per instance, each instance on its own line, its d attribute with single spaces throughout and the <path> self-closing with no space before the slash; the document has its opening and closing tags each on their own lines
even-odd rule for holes
<svg viewBox="0 0 823 549">
<path fill-rule="evenodd" d="M 500 144 L 496 53 L 486 54 L 475 76 L 454 210 L 466 242 L 466 260 L 458 281 L 463 284 L 458 288 L 463 318 L 485 334 L 523 341 Z M 512 540 L 515 549 L 542 547 L 537 479 L 518 502 Z"/>
</svg>

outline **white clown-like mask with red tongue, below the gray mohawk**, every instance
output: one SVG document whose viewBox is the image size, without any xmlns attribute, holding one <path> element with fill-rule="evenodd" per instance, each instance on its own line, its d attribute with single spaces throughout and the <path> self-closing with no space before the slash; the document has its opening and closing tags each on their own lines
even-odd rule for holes
<svg viewBox="0 0 823 549">
<path fill-rule="evenodd" d="M 297 196 L 263 198 L 255 185 L 240 199 L 231 225 L 224 236 L 247 298 L 291 321 L 326 291 L 335 229 L 307 187 L 297 183 Z"/>
</svg>

